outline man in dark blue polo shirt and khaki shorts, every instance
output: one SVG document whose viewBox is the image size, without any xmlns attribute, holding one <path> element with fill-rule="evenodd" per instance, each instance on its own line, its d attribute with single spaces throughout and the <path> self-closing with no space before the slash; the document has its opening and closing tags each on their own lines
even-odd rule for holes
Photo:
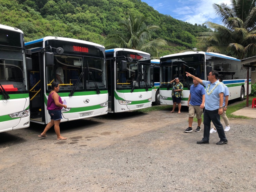
<svg viewBox="0 0 256 192">
<path fill-rule="evenodd" d="M 199 77 L 195 75 L 195 77 Z M 196 115 L 197 118 L 197 128 L 196 132 L 201 131 L 202 114 L 205 101 L 205 89 L 203 85 L 199 84 L 195 79 L 193 79 L 193 85 L 190 86 L 190 93 L 188 97 L 188 128 L 184 131 L 189 133 L 192 132 L 193 118 Z"/>
</svg>

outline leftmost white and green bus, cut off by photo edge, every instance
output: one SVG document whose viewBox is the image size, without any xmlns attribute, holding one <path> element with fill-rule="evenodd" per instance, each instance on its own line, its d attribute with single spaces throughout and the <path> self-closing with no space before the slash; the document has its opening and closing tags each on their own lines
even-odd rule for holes
<svg viewBox="0 0 256 192">
<path fill-rule="evenodd" d="M 0 24 L 0 132 L 29 127 L 25 53 L 23 32 Z"/>
</svg>

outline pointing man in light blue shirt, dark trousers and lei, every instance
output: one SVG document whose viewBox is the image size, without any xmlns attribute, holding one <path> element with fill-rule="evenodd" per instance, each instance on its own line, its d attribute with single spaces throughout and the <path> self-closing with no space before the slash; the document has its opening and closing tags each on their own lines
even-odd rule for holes
<svg viewBox="0 0 256 192">
<path fill-rule="evenodd" d="M 205 110 L 204 110 L 204 134 L 201 141 L 197 141 L 197 144 L 209 144 L 210 138 L 210 126 L 211 121 L 215 125 L 218 132 L 220 141 L 217 145 L 223 145 L 228 143 L 222 124 L 220 123 L 220 115 L 223 113 L 222 103 L 223 103 L 223 93 L 224 86 L 223 83 L 218 80 L 218 72 L 213 70 L 207 75 L 208 81 L 202 80 L 190 73 L 187 73 L 187 77 L 192 77 L 199 83 L 202 83 L 206 88 L 205 94 Z"/>
</svg>

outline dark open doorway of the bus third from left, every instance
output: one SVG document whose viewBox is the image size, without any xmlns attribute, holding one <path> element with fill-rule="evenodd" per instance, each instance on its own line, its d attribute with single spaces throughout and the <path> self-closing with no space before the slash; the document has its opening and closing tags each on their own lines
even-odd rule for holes
<svg viewBox="0 0 256 192">
<path fill-rule="evenodd" d="M 107 82 L 108 82 L 108 111 L 114 112 L 115 102 L 114 102 L 114 89 L 115 89 L 115 70 L 113 59 L 106 60 L 107 63 Z"/>
</svg>

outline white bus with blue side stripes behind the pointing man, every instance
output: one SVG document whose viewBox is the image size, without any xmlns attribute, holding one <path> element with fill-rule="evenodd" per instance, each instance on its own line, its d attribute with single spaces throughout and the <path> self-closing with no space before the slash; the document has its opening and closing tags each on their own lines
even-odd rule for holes
<svg viewBox="0 0 256 192">
<path fill-rule="evenodd" d="M 160 102 L 163 105 L 173 105 L 172 87 L 170 81 L 179 77 L 183 83 L 183 98 L 181 105 L 187 106 L 189 88 L 193 79 L 187 77 L 185 72 L 198 75 L 200 79 L 207 80 L 207 74 L 211 70 L 223 75 L 223 83 L 229 88 L 229 100 L 242 101 L 246 94 L 246 86 L 249 83 L 251 93 L 251 77 L 247 82 L 247 71 L 242 68 L 241 60 L 234 57 L 207 52 L 184 52 L 162 56 L 160 58 Z M 251 75 L 251 73 L 249 73 Z"/>
</svg>

